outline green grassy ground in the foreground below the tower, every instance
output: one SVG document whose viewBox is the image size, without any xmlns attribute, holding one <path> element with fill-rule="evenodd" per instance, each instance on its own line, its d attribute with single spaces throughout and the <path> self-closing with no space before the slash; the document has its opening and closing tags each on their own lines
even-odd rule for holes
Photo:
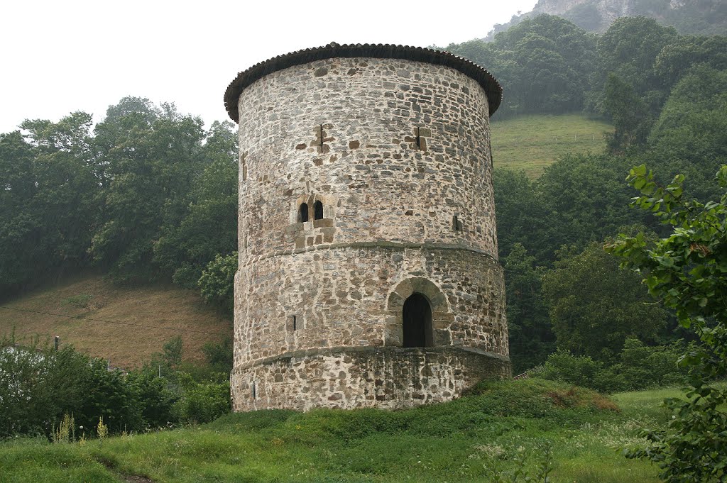
<svg viewBox="0 0 727 483">
<path fill-rule="evenodd" d="M 678 391 L 616 394 L 530 379 L 411 410 L 269 410 L 83 443 L 0 444 L 0 482 L 493 482 L 553 456 L 552 482 L 658 482 L 622 457 Z M 507 481 L 504 479 L 502 481 Z M 520 480 L 518 480 L 520 481 Z"/>
</svg>

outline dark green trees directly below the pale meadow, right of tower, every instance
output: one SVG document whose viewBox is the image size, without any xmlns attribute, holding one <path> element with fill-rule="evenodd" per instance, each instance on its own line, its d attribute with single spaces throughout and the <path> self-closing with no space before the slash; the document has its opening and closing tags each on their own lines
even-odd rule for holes
<svg viewBox="0 0 727 483">
<path fill-rule="evenodd" d="M 630 161 L 614 155 L 566 155 L 536 180 L 496 170 L 493 177 L 499 256 L 521 243 L 535 264 L 550 267 L 562 245 L 579 250 L 630 224 L 647 224 L 647 214 L 628 208 L 623 183 Z"/>
</svg>

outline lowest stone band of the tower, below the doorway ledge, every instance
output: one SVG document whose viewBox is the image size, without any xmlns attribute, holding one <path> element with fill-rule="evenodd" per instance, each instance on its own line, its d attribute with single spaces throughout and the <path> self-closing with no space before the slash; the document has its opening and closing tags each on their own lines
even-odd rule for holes
<svg viewBox="0 0 727 483">
<path fill-rule="evenodd" d="M 398 409 L 445 402 L 510 360 L 465 347 L 341 347 L 284 354 L 233 370 L 233 410 Z"/>
</svg>

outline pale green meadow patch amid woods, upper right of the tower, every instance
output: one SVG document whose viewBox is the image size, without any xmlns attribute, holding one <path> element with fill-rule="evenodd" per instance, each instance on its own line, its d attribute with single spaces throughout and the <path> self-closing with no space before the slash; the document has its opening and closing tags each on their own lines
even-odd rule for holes
<svg viewBox="0 0 727 483">
<path fill-rule="evenodd" d="M 555 158 L 566 153 L 601 153 L 604 134 L 613 131 L 604 121 L 582 114 L 521 115 L 490 125 L 495 169 L 523 169 L 537 177 Z"/>
</svg>

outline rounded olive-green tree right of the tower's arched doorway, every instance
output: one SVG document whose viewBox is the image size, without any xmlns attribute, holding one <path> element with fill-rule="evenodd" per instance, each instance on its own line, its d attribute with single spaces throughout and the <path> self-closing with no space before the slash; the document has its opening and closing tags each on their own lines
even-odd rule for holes
<svg viewBox="0 0 727 483">
<path fill-rule="evenodd" d="M 559 349 L 611 360 L 635 336 L 655 341 L 668 313 L 654 304 L 640 277 L 592 243 L 581 253 L 561 251 L 542 279 Z"/>
</svg>

